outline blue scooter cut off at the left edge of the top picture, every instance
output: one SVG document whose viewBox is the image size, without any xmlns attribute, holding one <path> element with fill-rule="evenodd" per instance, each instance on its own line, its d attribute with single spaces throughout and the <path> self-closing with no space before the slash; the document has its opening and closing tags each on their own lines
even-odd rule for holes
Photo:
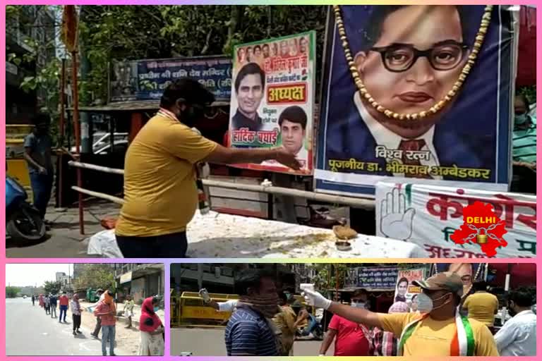
<svg viewBox="0 0 542 361">
<path fill-rule="evenodd" d="M 6 232 L 12 240 L 35 241 L 45 235 L 40 212 L 26 202 L 26 198 L 25 188 L 6 176 Z"/>
</svg>

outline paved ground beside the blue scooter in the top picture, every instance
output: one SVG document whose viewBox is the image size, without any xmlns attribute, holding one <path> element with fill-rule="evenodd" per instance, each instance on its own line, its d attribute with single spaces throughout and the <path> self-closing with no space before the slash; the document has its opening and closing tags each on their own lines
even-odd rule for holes
<svg viewBox="0 0 542 361">
<path fill-rule="evenodd" d="M 100 221 L 105 216 L 116 218 L 120 206 L 108 201 L 90 200 L 85 202 L 85 235 L 79 233 L 79 210 L 77 207 L 58 211 L 49 206 L 47 215 L 53 222 L 51 231 L 44 240 L 34 244 L 15 243 L 6 237 L 6 257 L 8 258 L 83 258 L 87 255 L 88 240 L 91 235 L 103 231 Z"/>
</svg>

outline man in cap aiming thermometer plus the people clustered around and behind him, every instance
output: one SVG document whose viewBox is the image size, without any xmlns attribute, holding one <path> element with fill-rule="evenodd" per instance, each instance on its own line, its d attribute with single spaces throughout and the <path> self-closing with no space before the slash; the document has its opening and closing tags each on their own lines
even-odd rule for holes
<svg viewBox="0 0 542 361">
<path fill-rule="evenodd" d="M 497 331 L 494 322 L 498 300 L 487 292 L 486 283 L 476 283 L 476 292 L 465 299 L 462 279 L 454 272 L 412 283 L 422 290 L 416 298 L 416 312 L 402 301 L 395 302 L 384 314 L 332 302 L 313 290 L 305 290 L 304 297 L 315 307 L 349 322 L 330 324 L 332 334 L 337 333 L 335 355 L 359 355 L 360 350 L 366 350 L 365 355 L 536 355 L 536 314 L 531 310 L 536 302 L 532 290 L 519 288 L 508 293 L 507 311 L 512 318 Z M 356 331 L 359 336 L 352 337 Z M 351 353 L 353 345 L 359 347 L 356 354 Z M 322 350 L 325 353 L 327 348 Z"/>
</svg>

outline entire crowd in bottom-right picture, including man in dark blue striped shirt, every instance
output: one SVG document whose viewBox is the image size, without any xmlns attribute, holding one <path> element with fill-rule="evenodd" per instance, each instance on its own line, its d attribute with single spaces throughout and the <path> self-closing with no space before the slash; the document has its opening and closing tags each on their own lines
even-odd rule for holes
<svg viewBox="0 0 542 361">
<path fill-rule="evenodd" d="M 246 269 L 236 275 L 239 300 L 216 302 L 207 290 L 207 305 L 233 312 L 224 331 L 229 356 L 293 355 L 294 341 L 322 329 L 311 307 L 333 314 L 320 345 L 320 356 L 334 343 L 335 356 L 532 356 L 536 355 L 536 296 L 531 289 L 507 293 L 504 326 L 495 327 L 498 298 L 485 282 L 463 297 L 464 285 L 454 272 L 423 281 L 415 298 L 396 300 L 387 313 L 371 312 L 366 290 L 351 295 L 349 305 L 332 302 L 314 290 L 304 290 L 306 305 L 291 290 L 277 289 L 275 275 Z"/>
</svg>

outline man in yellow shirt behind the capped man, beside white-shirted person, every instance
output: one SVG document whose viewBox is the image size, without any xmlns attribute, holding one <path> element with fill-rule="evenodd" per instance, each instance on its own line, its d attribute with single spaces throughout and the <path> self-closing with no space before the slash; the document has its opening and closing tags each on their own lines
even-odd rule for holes
<svg viewBox="0 0 542 361">
<path fill-rule="evenodd" d="M 486 324 L 491 333 L 495 334 L 493 324 L 495 314 L 499 310 L 499 300 L 497 296 L 487 291 L 488 284 L 485 281 L 478 281 L 473 287 L 475 292 L 466 298 L 463 308 L 469 312 L 469 319 L 476 319 Z"/>
</svg>

